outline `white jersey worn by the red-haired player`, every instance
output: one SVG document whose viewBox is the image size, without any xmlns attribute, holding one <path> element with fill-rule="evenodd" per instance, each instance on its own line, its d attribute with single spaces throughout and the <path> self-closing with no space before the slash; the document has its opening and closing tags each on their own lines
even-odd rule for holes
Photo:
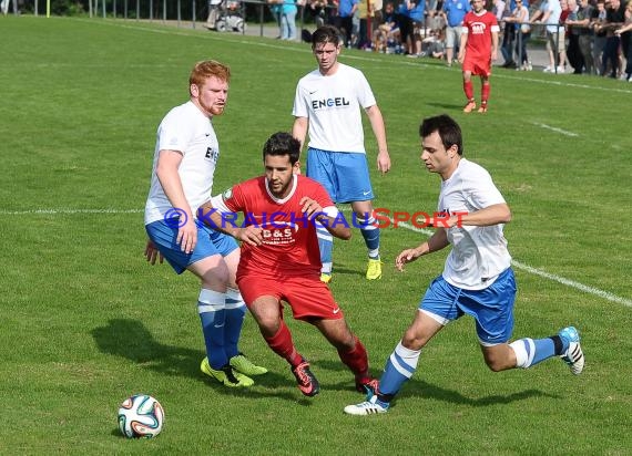
<svg viewBox="0 0 632 456">
<path fill-rule="evenodd" d="M 145 225 L 163 220 L 165 214 L 173 208 L 156 176 L 160 151 L 182 153 L 177 174 L 194 216 L 197 207 L 211 197 L 213 176 L 220 156 L 220 145 L 213 124 L 193 102 L 171 110 L 157 128 L 152 184 L 145 205 Z"/>
</svg>

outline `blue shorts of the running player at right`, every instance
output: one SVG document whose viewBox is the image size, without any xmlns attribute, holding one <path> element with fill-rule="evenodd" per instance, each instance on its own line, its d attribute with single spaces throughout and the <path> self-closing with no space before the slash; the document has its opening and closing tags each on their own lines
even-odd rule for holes
<svg viewBox="0 0 632 456">
<path fill-rule="evenodd" d="M 482 290 L 465 290 L 439 276 L 428 287 L 419 310 L 430 313 L 441 324 L 458 320 L 466 313 L 472 315 L 479 342 L 491 346 L 511 339 L 516 291 L 511 268 Z"/>
</svg>

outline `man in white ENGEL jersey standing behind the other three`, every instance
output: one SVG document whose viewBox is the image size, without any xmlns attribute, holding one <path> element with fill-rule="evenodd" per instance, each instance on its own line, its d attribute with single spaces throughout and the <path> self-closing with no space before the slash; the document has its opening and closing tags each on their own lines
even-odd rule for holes
<svg viewBox="0 0 632 456">
<path fill-rule="evenodd" d="M 386 145 L 384 118 L 365 75 L 338 62 L 340 35 L 330 25 L 312 35 L 312 51 L 318 69 L 298 81 L 294 99 L 292 134 L 307 149 L 307 176 L 320 183 L 334 203 L 350 203 L 354 225 L 360 228 L 368 249 L 366 278 L 381 278 L 379 228 L 373 214 L 374 198 L 369 178 L 360 107 L 367 114 L 377 142 L 377 169 L 388 173 L 390 156 Z M 318 247 L 323 263 L 320 280 L 332 280 L 334 239 L 323 227 Z"/>
</svg>

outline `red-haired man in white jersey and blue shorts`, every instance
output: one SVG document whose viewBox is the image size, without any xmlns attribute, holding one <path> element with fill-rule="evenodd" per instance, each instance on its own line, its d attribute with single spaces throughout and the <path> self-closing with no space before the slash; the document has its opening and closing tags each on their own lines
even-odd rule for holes
<svg viewBox="0 0 632 456">
<path fill-rule="evenodd" d="M 206 345 L 201 370 L 225 386 L 247 387 L 252 375 L 267 370 L 237 348 L 246 312 L 235 284 L 239 249 L 232 237 L 196 218 L 197 208 L 211 198 L 220 158 L 211 120 L 224 112 L 230 79 L 228 66 L 198 62 L 188 77 L 190 101 L 172 108 L 157 128 L 145 204 L 145 256 L 153 265 L 160 252 L 175 272 L 188 270 L 200 279 L 197 312 Z"/>
</svg>

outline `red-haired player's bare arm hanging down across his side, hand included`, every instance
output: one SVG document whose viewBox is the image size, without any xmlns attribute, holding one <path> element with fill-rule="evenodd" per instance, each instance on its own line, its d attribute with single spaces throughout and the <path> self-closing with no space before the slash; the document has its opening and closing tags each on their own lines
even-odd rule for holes
<svg viewBox="0 0 632 456">
<path fill-rule="evenodd" d="M 197 227 L 195 226 L 188 201 L 184 196 L 182 180 L 177 174 L 182 157 L 183 155 L 180 151 L 160 151 L 156 164 L 156 176 L 171 205 L 176 210 L 182 211 L 182 218 L 186 218 L 184 224 L 177 229 L 176 242 L 182 251 L 191 253 L 197 243 Z"/>
</svg>

